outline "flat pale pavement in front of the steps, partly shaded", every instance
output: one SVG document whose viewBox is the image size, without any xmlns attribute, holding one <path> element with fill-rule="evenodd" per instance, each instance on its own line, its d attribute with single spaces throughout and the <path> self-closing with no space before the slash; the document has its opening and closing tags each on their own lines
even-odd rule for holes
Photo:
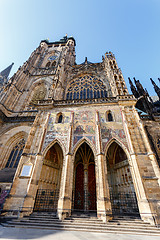
<svg viewBox="0 0 160 240">
<path fill-rule="evenodd" d="M 0 226 L 0 239 L 33 240 L 159 240 L 159 236 L 131 235 L 117 233 L 91 233 L 76 231 L 51 231 L 25 228 L 6 228 Z"/>
</svg>

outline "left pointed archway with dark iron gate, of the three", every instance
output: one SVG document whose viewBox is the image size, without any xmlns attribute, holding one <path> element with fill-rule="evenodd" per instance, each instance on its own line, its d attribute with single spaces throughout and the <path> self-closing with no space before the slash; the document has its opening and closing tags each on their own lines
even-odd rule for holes
<svg viewBox="0 0 160 240">
<path fill-rule="evenodd" d="M 62 149 L 55 143 L 44 158 L 34 211 L 57 211 L 62 162 Z"/>
</svg>

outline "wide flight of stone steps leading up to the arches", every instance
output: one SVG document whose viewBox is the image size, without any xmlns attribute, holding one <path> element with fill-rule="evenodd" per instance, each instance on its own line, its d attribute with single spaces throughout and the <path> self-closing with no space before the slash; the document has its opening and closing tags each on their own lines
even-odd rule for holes
<svg viewBox="0 0 160 240">
<path fill-rule="evenodd" d="M 144 223 L 139 218 L 116 218 L 107 223 L 95 216 L 72 216 L 63 221 L 55 213 L 32 213 L 29 217 L 2 223 L 4 227 L 67 230 L 100 233 L 127 233 L 160 236 L 160 228 Z"/>
</svg>

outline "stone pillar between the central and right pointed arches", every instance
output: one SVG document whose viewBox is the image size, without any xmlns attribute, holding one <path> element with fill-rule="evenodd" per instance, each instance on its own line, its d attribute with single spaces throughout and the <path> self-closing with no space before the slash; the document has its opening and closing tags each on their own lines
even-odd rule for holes
<svg viewBox="0 0 160 240">
<path fill-rule="evenodd" d="M 102 141 L 100 132 L 100 121 L 99 113 L 96 112 L 96 135 L 97 135 L 97 171 L 96 171 L 96 181 L 97 181 L 97 216 L 104 222 L 109 221 L 112 217 L 110 194 L 108 179 L 106 177 L 107 169 L 105 163 L 105 156 L 102 152 Z"/>
</svg>

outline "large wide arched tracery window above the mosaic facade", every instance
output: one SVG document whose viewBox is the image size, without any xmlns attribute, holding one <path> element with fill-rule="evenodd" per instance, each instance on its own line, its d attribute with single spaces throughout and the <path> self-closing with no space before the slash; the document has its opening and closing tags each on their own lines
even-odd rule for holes
<svg viewBox="0 0 160 240">
<path fill-rule="evenodd" d="M 66 92 L 67 100 L 103 97 L 107 97 L 106 86 L 103 81 L 89 75 L 72 80 Z"/>
</svg>

